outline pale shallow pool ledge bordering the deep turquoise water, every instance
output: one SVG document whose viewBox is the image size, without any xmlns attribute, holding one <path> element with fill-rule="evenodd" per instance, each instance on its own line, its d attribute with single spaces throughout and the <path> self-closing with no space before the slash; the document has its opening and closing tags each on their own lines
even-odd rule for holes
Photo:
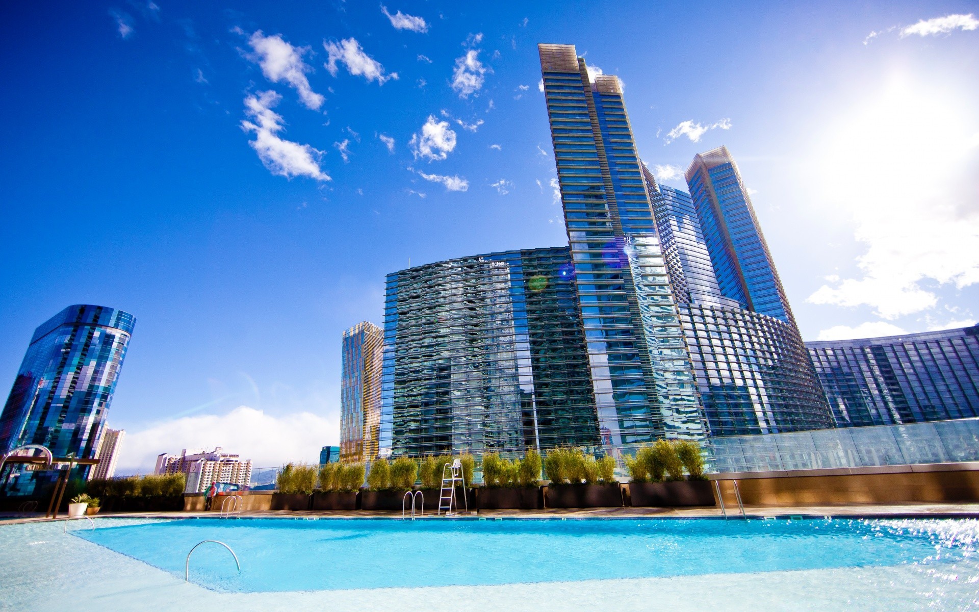
<svg viewBox="0 0 979 612">
<path fill-rule="evenodd" d="M 134 519 L 100 519 L 105 526 Z M 70 524 L 82 529 L 87 521 Z M 63 534 L 0 527 L 2 610 L 969 610 L 975 567 L 904 565 L 495 587 L 219 593 Z M 446 551 L 451 554 L 451 551 Z M 245 562 L 246 560 L 243 560 Z"/>
</svg>

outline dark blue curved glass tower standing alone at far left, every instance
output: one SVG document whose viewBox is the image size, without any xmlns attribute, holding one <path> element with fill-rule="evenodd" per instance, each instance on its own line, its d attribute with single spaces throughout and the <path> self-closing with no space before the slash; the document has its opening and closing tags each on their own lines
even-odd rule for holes
<svg viewBox="0 0 979 612">
<path fill-rule="evenodd" d="M 34 331 L 0 414 L 0 451 L 27 444 L 94 458 L 135 318 L 69 306 Z"/>
</svg>

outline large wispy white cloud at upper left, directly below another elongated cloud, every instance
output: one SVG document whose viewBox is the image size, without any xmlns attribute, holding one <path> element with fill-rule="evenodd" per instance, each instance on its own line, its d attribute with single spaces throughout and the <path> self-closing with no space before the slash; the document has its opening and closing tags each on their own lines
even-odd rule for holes
<svg viewBox="0 0 979 612">
<path fill-rule="evenodd" d="M 249 142 L 258 154 L 258 159 L 273 174 L 292 178 L 308 176 L 316 180 L 331 180 L 319 167 L 318 159 L 323 154 L 309 145 L 301 145 L 283 140 L 276 135 L 282 131 L 282 117 L 271 109 L 282 100 L 274 91 L 263 91 L 256 96 L 245 98 L 245 113 L 255 122 L 243 120 L 242 129 L 255 132 L 256 138 Z"/>
</svg>

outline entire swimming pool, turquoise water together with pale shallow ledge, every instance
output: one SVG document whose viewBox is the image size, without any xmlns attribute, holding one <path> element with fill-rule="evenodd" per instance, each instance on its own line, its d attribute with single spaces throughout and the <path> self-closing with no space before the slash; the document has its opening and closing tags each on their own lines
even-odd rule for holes
<svg viewBox="0 0 979 612">
<path fill-rule="evenodd" d="M 0 528 L 0 609 L 971 610 L 975 520 L 99 519 Z M 187 550 L 191 583 L 183 582 Z M 215 608 L 215 609 L 217 609 Z"/>
</svg>

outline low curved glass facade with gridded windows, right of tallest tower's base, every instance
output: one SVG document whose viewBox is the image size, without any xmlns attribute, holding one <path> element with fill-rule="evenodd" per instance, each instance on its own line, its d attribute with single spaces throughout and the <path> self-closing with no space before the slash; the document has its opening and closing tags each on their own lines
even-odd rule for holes
<svg viewBox="0 0 979 612">
<path fill-rule="evenodd" d="M 711 436 L 833 427 L 795 328 L 743 308 L 680 307 Z"/>
</svg>

